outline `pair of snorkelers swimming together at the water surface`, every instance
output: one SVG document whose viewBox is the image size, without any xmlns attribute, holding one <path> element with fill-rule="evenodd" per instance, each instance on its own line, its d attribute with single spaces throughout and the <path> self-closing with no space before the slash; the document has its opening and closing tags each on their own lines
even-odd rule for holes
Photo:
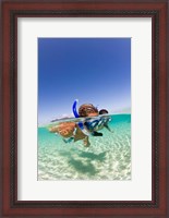
<svg viewBox="0 0 169 218">
<path fill-rule="evenodd" d="M 102 136 L 102 133 L 97 132 L 106 128 L 108 131 L 112 132 L 108 125 L 111 118 L 107 116 L 108 111 L 106 109 L 98 109 L 92 104 L 84 104 L 80 106 L 79 112 L 76 110 L 77 100 L 74 101 L 72 110 L 75 118 L 80 118 L 80 121 L 73 122 L 61 122 L 49 129 L 51 133 L 57 133 L 62 136 L 65 143 L 72 141 L 76 142 L 82 140 L 84 146 L 89 146 L 89 135 Z M 84 120 L 81 121 L 81 118 Z"/>
</svg>

